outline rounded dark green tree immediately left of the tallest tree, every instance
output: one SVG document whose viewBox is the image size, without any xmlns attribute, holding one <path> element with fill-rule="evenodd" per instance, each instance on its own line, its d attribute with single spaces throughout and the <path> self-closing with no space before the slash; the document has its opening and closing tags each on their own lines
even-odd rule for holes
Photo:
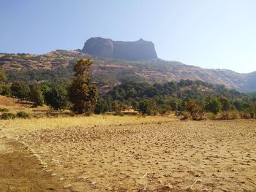
<svg viewBox="0 0 256 192">
<path fill-rule="evenodd" d="M 55 85 L 50 91 L 45 93 L 45 101 L 53 110 L 67 109 L 68 94 L 67 89 L 61 85 Z"/>
</svg>

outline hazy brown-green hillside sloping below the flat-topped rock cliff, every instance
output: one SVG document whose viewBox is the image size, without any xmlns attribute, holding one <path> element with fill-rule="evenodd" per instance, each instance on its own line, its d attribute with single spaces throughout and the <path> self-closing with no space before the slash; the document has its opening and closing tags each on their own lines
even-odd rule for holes
<svg viewBox="0 0 256 192">
<path fill-rule="evenodd" d="M 127 79 L 145 82 L 202 80 L 212 84 L 222 84 L 241 92 L 256 91 L 256 72 L 239 74 L 225 69 L 203 69 L 181 64 L 178 61 L 163 61 L 159 58 L 128 61 L 129 59 L 108 58 L 104 54 L 90 55 L 85 53 L 86 50 L 85 46 L 83 50 L 56 50 L 43 55 L 0 53 L 0 66 L 6 70 L 11 82 L 15 80 L 68 82 L 72 78 L 72 66 L 78 58 L 91 58 L 94 60 L 92 68 L 94 83 L 105 91 Z"/>
</svg>

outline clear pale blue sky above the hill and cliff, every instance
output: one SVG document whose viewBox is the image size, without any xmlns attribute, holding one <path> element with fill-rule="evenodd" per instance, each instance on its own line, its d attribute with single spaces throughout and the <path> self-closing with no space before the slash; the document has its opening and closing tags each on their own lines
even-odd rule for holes
<svg viewBox="0 0 256 192">
<path fill-rule="evenodd" d="M 0 26 L 0 53 L 143 38 L 165 60 L 256 71 L 255 0 L 0 0 Z"/>
</svg>

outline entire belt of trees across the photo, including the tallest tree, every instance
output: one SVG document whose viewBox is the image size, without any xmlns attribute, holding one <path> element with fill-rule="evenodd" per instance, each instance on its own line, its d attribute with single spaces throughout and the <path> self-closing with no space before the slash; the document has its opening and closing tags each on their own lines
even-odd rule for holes
<svg viewBox="0 0 256 192">
<path fill-rule="evenodd" d="M 255 117 L 256 93 L 239 93 L 200 80 L 154 84 L 124 80 L 98 96 L 97 88 L 91 84 L 91 65 L 90 59 L 79 59 L 73 68 L 72 82 L 66 84 L 55 81 L 28 85 L 16 81 L 8 85 L 4 84 L 7 77 L 0 69 L 0 94 L 32 101 L 35 107 L 48 104 L 54 110 L 71 109 L 86 115 L 121 112 L 132 106 L 146 115 L 187 111 L 192 119 L 199 119 L 205 112 L 217 115 L 236 110 Z"/>
</svg>

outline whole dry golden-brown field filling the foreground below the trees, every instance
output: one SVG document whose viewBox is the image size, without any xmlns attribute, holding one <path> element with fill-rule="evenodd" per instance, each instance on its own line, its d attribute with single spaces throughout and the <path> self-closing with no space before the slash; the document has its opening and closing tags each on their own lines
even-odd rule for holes
<svg viewBox="0 0 256 192">
<path fill-rule="evenodd" d="M 98 119 L 0 120 L 0 191 L 256 191 L 256 120 Z"/>
</svg>

